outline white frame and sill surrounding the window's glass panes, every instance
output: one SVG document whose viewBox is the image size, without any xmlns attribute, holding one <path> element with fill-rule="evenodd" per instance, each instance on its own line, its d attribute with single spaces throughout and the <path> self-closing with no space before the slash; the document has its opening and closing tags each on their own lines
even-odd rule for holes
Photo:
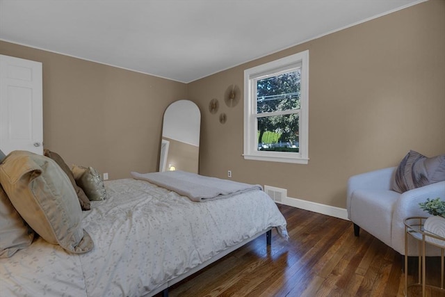
<svg viewBox="0 0 445 297">
<path fill-rule="evenodd" d="M 257 93 L 255 81 L 262 77 L 301 67 L 299 152 L 267 152 L 258 150 Z M 244 70 L 244 159 L 283 163 L 309 162 L 309 50 Z"/>
</svg>

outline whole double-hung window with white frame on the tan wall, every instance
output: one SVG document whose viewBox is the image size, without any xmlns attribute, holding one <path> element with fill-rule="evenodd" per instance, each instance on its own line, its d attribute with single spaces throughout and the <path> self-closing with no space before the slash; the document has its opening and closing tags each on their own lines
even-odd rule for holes
<svg viewBox="0 0 445 297">
<path fill-rule="evenodd" d="M 309 51 L 244 71 L 244 159 L 307 164 Z"/>
</svg>

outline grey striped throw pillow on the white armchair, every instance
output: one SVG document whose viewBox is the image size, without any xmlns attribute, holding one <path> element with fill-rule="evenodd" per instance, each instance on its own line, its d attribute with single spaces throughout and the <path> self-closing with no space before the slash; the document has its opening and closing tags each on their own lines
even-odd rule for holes
<svg viewBox="0 0 445 297">
<path fill-rule="evenodd" d="M 410 150 L 399 164 L 392 182 L 398 193 L 445 180 L 445 154 L 428 158 Z"/>
</svg>

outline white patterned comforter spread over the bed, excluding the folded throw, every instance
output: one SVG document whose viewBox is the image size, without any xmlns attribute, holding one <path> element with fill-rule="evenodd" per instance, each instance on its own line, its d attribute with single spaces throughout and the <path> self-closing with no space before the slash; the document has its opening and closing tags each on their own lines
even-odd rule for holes
<svg viewBox="0 0 445 297">
<path fill-rule="evenodd" d="M 142 296 L 268 227 L 287 236 L 259 190 L 206 203 L 136 179 L 106 191 L 83 211 L 94 250 L 74 255 L 38 239 L 0 259 L 0 296 Z"/>
</svg>

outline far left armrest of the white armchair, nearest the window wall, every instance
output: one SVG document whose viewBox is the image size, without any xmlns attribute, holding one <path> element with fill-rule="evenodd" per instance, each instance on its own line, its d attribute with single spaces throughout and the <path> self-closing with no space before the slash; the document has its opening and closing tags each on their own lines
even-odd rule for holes
<svg viewBox="0 0 445 297">
<path fill-rule="evenodd" d="M 396 171 L 396 167 L 383 168 L 359 175 L 353 175 L 348 179 L 346 194 L 346 207 L 350 216 L 350 199 L 355 190 L 390 190 L 391 179 Z"/>
</svg>

